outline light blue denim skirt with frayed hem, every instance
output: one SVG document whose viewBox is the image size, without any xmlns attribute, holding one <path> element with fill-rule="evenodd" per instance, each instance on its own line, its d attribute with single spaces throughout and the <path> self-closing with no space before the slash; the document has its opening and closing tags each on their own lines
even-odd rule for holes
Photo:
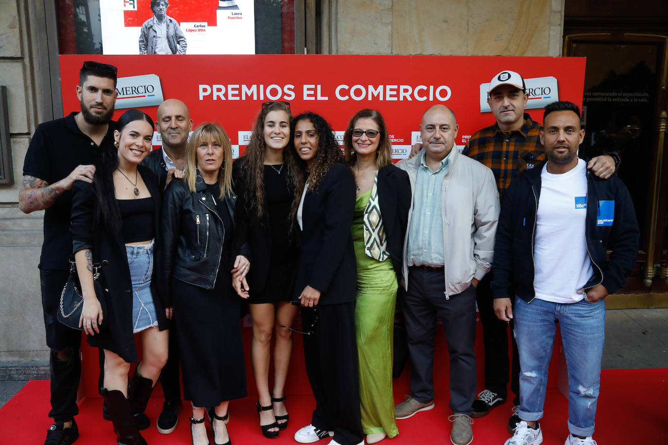
<svg viewBox="0 0 668 445">
<path fill-rule="evenodd" d="M 154 242 L 150 244 L 126 244 L 130 279 L 132 280 L 132 332 L 158 326 L 156 308 L 151 293 Z"/>
</svg>

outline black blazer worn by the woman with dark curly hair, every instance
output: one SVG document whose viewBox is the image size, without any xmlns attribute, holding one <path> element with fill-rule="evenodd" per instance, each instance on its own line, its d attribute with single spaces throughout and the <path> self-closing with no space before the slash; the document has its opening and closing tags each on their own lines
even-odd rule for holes
<svg viewBox="0 0 668 445">
<path fill-rule="evenodd" d="M 318 189 L 304 197 L 297 298 L 306 286 L 321 292 L 318 304 L 355 301 L 357 261 L 350 228 L 355 211 L 355 178 L 341 163 L 330 167 Z"/>
</svg>

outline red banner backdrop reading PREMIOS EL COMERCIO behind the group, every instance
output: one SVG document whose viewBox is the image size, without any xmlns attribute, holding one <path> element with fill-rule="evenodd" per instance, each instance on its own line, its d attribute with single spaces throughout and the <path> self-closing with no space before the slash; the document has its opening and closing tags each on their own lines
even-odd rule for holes
<svg viewBox="0 0 668 445">
<path fill-rule="evenodd" d="M 482 111 L 484 84 L 504 69 L 526 78 L 527 89 L 533 89 L 529 104 L 539 107 L 525 112 L 538 122 L 542 107 L 557 97 L 581 105 L 585 80 L 585 59 L 578 57 L 559 57 L 555 63 L 554 57 L 61 55 L 65 114 L 79 110 L 74 93 L 79 69 L 92 58 L 118 67 L 116 118 L 124 111 L 120 108 L 132 106 L 155 119 L 162 98 L 180 99 L 195 125 L 215 121 L 226 129 L 235 156 L 248 145 L 255 117 L 266 101 L 287 101 L 294 115 L 307 110 L 323 115 L 340 144 L 353 114 L 377 109 L 390 132 L 393 158 L 403 159 L 420 141 L 422 114 L 434 103 L 456 114 L 455 143 L 460 151 L 473 133 L 492 125 L 494 115 Z M 360 65 L 373 67 L 373 74 L 358 69 Z M 154 138 L 154 143 L 160 139 Z"/>
</svg>

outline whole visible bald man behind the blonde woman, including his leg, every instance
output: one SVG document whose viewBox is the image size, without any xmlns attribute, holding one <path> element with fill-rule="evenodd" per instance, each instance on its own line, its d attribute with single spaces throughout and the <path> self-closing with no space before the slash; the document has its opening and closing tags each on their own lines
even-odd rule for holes
<svg viewBox="0 0 668 445">
<path fill-rule="evenodd" d="M 142 165 L 150 168 L 158 177 L 161 189 L 165 189 L 176 175 L 183 177 L 186 168 L 186 145 L 192 130 L 192 119 L 186 104 L 178 99 L 167 99 L 158 107 L 156 128 L 162 137 L 162 148 L 152 151 Z M 173 320 L 173 319 L 172 319 Z M 160 384 L 165 401 L 156 424 L 160 434 L 176 430 L 181 408 L 181 392 L 178 380 L 178 338 L 174 322 L 169 326 L 169 356 L 160 374 Z"/>
</svg>

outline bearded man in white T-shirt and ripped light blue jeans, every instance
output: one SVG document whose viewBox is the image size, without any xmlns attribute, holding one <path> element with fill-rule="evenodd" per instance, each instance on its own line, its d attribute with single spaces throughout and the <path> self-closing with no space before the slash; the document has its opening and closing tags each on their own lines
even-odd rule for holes
<svg viewBox="0 0 668 445">
<path fill-rule="evenodd" d="M 577 105 L 550 103 L 543 122 L 548 161 L 506 190 L 494 245 L 494 312 L 504 322 L 514 316 L 520 354 L 519 420 L 505 445 L 542 442 L 538 420 L 557 324 L 568 369 L 565 443 L 595 445 L 605 298 L 635 267 L 639 230 L 621 179 L 597 177 L 577 157 L 585 137 Z"/>
</svg>

